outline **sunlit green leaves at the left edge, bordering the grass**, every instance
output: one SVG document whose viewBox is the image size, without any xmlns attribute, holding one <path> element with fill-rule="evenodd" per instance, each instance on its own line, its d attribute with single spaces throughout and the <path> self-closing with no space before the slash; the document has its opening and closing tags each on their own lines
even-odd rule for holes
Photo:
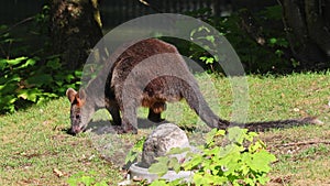
<svg viewBox="0 0 330 186">
<path fill-rule="evenodd" d="M 78 72 L 62 67 L 59 58 L 0 58 L 0 112 L 13 112 L 26 103 L 62 97 L 68 87 L 78 87 Z"/>
</svg>

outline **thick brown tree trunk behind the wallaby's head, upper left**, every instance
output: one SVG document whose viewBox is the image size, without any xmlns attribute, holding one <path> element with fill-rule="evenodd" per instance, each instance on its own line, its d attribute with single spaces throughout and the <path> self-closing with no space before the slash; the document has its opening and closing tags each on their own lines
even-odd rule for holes
<svg viewBox="0 0 330 186">
<path fill-rule="evenodd" d="M 52 0 L 53 53 L 69 69 L 81 67 L 90 50 L 102 37 L 97 0 Z"/>
</svg>

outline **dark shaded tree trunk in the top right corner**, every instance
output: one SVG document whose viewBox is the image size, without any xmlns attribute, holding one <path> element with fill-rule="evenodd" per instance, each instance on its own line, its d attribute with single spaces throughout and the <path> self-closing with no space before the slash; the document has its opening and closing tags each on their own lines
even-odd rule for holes
<svg viewBox="0 0 330 186">
<path fill-rule="evenodd" d="M 302 67 L 329 66 L 329 2 L 323 0 L 278 0 L 285 31 L 295 58 Z M 323 6 L 324 4 L 324 6 Z"/>
</svg>

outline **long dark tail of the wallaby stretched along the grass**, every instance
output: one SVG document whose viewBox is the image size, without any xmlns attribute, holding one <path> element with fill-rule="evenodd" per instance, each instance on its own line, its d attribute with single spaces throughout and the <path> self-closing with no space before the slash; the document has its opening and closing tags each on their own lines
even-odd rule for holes
<svg viewBox="0 0 330 186">
<path fill-rule="evenodd" d="M 185 87 L 182 91 L 183 97 L 187 100 L 187 103 L 200 119 L 206 122 L 210 128 L 218 128 L 226 130 L 229 127 L 240 127 L 246 128 L 250 131 L 266 131 L 270 129 L 278 128 L 290 128 L 295 125 L 304 124 L 322 124 L 320 120 L 314 117 L 307 117 L 302 119 L 289 119 L 289 120 L 277 120 L 277 121 L 261 121 L 261 122 L 249 122 L 249 123 L 238 123 L 230 122 L 228 120 L 219 118 L 213 111 L 209 108 L 208 103 L 204 99 L 198 87 L 191 87 L 184 85 Z"/>
</svg>

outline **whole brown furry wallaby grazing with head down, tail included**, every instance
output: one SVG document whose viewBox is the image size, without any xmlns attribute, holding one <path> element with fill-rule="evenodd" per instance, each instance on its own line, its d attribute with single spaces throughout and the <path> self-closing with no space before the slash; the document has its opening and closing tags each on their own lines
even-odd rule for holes
<svg viewBox="0 0 330 186">
<path fill-rule="evenodd" d="M 116 58 L 106 83 L 106 100 L 101 96 L 91 96 L 98 85 L 98 77 L 91 80 L 84 91 L 67 91 L 72 102 L 72 132 L 84 130 L 90 116 L 106 101 L 106 108 L 112 114 L 116 124 L 122 124 L 123 132 L 138 132 L 138 107 L 150 108 L 148 119 L 162 121 L 161 113 L 166 102 L 186 99 L 193 110 L 210 128 L 227 129 L 229 125 L 241 125 L 220 119 L 208 107 L 197 81 L 176 47 L 155 39 L 140 41 L 123 51 Z M 84 94 L 84 101 L 81 95 Z M 86 92 L 86 94 L 85 94 Z M 76 110 L 85 109 L 81 120 L 73 120 Z M 122 113 L 120 118 L 119 110 Z M 78 114 L 81 114 L 80 112 Z M 87 116 L 87 117 L 86 117 Z M 84 118 L 85 117 L 85 118 Z M 312 118 L 271 122 L 245 123 L 250 130 L 264 130 L 287 125 L 315 122 Z M 76 127 L 79 125 L 79 127 Z"/>
</svg>

